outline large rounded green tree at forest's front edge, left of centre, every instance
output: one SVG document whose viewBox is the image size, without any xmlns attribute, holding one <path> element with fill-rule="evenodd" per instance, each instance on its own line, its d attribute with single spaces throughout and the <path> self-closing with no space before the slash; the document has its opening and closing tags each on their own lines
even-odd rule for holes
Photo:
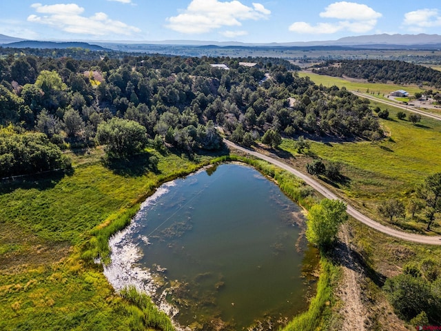
<svg viewBox="0 0 441 331">
<path fill-rule="evenodd" d="M 118 117 L 100 123 L 96 139 L 106 145 L 107 156 L 116 159 L 141 152 L 147 143 L 146 130 L 141 124 Z"/>
</svg>

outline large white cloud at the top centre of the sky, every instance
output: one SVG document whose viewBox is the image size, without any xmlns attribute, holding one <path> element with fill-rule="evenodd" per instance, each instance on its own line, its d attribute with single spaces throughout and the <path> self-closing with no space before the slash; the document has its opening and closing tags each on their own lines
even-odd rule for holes
<svg viewBox="0 0 441 331">
<path fill-rule="evenodd" d="M 237 0 L 192 0 L 181 14 L 167 18 L 167 28 L 182 33 L 204 33 L 223 26 L 242 26 L 244 20 L 266 19 L 271 14 L 260 3 L 253 3 L 253 7 Z"/>
</svg>

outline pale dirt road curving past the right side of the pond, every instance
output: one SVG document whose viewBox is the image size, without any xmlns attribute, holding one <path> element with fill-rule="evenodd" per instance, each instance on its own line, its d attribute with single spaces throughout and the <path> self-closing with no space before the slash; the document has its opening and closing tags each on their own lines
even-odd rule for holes
<svg viewBox="0 0 441 331">
<path fill-rule="evenodd" d="M 296 177 L 299 177 L 305 183 L 311 186 L 311 188 L 314 188 L 314 190 L 318 191 L 320 194 L 322 194 L 323 197 L 327 199 L 338 199 L 342 200 L 339 197 L 336 196 L 331 190 L 326 188 L 324 185 L 318 183 L 315 179 L 312 179 L 311 177 L 308 177 L 306 174 L 303 174 L 302 172 L 291 168 L 286 163 L 283 163 L 281 161 L 278 161 L 272 157 L 269 157 L 265 154 L 261 154 L 259 152 L 256 152 L 254 150 L 249 150 L 247 148 L 243 148 L 241 146 L 236 145 L 236 143 L 233 143 L 232 141 L 229 141 L 227 139 L 223 139 L 224 143 L 227 144 L 227 146 L 236 148 L 236 150 L 240 150 L 241 152 L 245 152 L 247 154 L 251 154 L 254 157 L 257 157 L 258 159 L 263 159 L 269 163 L 272 163 L 274 165 L 277 165 L 279 168 L 282 168 L 283 170 L 287 170 L 288 172 L 291 172 L 291 174 L 294 174 Z M 344 201 L 347 203 L 346 201 Z M 355 208 L 353 208 L 351 205 L 347 204 L 347 213 L 351 215 L 354 219 L 357 219 L 358 221 L 366 224 L 367 226 L 378 230 L 380 232 L 383 232 L 385 234 L 388 234 L 391 237 L 396 237 L 398 239 L 406 240 L 406 241 L 413 241 L 414 243 L 424 243 L 427 245 L 441 245 L 441 237 L 428 237 L 423 236 L 421 234 L 413 234 L 408 232 L 402 232 L 399 230 L 395 230 L 392 228 L 389 228 L 385 225 L 382 225 L 378 223 L 377 221 L 373 221 L 373 219 L 370 219 L 369 217 L 365 216 Z"/>
</svg>

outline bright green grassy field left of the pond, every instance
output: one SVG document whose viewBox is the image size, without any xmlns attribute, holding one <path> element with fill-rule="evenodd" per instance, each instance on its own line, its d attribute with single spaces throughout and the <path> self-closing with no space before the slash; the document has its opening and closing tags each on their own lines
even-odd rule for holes
<svg viewBox="0 0 441 331">
<path fill-rule="evenodd" d="M 210 157 L 157 154 L 152 171 L 143 160 L 110 169 L 99 161 L 100 150 L 91 152 L 73 155 L 72 174 L 1 183 L 0 330 L 170 330 L 168 319 L 149 321 L 161 314 L 147 299 L 136 299 L 143 302 L 137 306 L 133 296 L 114 294 L 101 265 L 84 253 L 112 223 L 136 212 L 154 187 Z"/>
</svg>

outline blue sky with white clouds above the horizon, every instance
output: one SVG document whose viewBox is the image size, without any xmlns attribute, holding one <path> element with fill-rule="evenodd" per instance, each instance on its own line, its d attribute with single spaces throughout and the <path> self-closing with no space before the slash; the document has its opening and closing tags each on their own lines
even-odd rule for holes
<svg viewBox="0 0 441 331">
<path fill-rule="evenodd" d="M 0 34 L 39 40 L 320 41 L 441 34 L 440 0 L 0 0 Z"/>
</svg>

